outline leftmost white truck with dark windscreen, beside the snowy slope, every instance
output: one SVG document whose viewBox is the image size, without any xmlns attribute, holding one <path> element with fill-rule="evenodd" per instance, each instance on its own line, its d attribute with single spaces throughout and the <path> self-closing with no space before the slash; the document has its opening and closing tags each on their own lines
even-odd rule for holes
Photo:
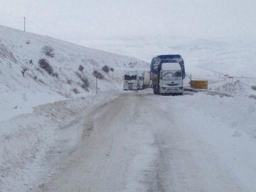
<svg viewBox="0 0 256 192">
<path fill-rule="evenodd" d="M 124 72 L 124 90 L 139 90 L 138 71 Z"/>
</svg>

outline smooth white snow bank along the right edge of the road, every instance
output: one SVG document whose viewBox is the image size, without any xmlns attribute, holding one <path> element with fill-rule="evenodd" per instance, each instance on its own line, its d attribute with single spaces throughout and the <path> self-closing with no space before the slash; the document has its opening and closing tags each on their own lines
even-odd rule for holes
<svg viewBox="0 0 256 192">
<path fill-rule="evenodd" d="M 248 97 L 209 96 L 206 93 L 160 98 L 161 108 L 173 114 L 180 129 L 192 130 L 210 147 L 220 164 L 247 191 L 254 191 L 256 160 L 256 101 Z M 193 135 L 188 135 L 193 137 Z"/>
</svg>

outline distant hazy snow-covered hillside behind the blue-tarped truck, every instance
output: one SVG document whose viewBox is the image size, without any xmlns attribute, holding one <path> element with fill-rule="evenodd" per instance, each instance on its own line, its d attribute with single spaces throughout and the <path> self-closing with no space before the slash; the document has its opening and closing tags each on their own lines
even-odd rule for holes
<svg viewBox="0 0 256 192">
<path fill-rule="evenodd" d="M 256 76 L 256 42 L 182 37 L 137 37 L 74 41 L 150 62 L 155 55 L 180 54 L 186 74 L 218 80 L 220 74 Z"/>
</svg>

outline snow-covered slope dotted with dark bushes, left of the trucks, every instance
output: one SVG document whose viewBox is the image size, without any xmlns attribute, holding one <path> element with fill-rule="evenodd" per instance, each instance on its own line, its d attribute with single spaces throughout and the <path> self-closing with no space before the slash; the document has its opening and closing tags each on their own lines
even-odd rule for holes
<svg viewBox="0 0 256 192">
<path fill-rule="evenodd" d="M 54 57 L 44 54 L 42 47 L 45 45 L 54 49 Z M 40 59 L 46 59 L 52 66 L 51 75 L 39 66 Z M 78 70 L 80 65 L 84 67 L 82 71 Z M 114 68 L 114 72 L 102 71 L 104 65 Z M 148 63 L 0 26 L 0 108 L 4 111 L 0 121 L 31 112 L 32 106 L 38 104 L 71 98 L 78 92 L 95 92 L 94 70 L 104 76 L 98 80 L 99 89 L 119 89 L 122 74 L 130 66 L 146 69 Z M 88 87 L 82 78 L 88 80 Z"/>
</svg>

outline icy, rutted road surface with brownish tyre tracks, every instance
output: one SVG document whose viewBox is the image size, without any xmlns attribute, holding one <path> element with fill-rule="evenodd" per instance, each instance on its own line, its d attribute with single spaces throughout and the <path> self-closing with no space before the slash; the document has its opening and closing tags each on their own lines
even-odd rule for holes
<svg viewBox="0 0 256 192">
<path fill-rule="evenodd" d="M 219 132 L 224 130 L 220 122 L 202 128 L 197 122 L 182 124 L 184 117 L 174 115 L 175 104 L 165 102 L 173 98 L 153 95 L 151 90 L 127 92 L 89 114 L 81 111 L 77 122 L 70 124 L 84 126 L 80 142 L 66 154 L 65 145 L 60 146 L 63 154 L 55 158 L 50 179 L 32 191 L 253 191 L 255 155 L 247 161 L 239 151 L 255 146 L 254 141 L 240 138 L 237 149 L 233 130 Z"/>
</svg>

